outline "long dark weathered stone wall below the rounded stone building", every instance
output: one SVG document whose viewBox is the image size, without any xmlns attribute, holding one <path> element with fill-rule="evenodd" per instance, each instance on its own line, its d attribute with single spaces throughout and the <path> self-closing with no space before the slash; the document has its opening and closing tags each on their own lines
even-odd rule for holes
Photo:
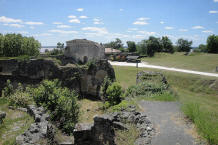
<svg viewBox="0 0 218 145">
<path fill-rule="evenodd" d="M 63 65 L 57 64 L 54 59 L 0 60 L 0 91 L 7 79 L 15 86 L 18 82 L 34 85 L 43 79 L 59 79 L 64 86 L 75 89 L 81 96 L 98 97 L 104 77 L 107 75 L 115 79 L 114 70 L 107 60 L 77 65 L 73 64 L 73 59 L 63 56 L 58 59 Z"/>
</svg>

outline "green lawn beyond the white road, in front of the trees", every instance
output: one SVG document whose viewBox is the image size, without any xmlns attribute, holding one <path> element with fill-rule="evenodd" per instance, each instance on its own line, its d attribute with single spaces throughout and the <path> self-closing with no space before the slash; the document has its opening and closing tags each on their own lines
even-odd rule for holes
<svg viewBox="0 0 218 145">
<path fill-rule="evenodd" d="M 218 54 L 193 53 L 186 56 L 184 52 L 156 53 L 154 57 L 146 57 L 142 61 L 152 65 L 215 73 L 218 66 Z"/>
</svg>

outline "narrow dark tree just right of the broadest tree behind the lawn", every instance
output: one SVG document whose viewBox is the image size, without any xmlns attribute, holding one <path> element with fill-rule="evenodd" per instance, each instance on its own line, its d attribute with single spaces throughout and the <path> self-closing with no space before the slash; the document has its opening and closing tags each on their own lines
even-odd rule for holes
<svg viewBox="0 0 218 145">
<path fill-rule="evenodd" d="M 162 37 L 161 45 L 162 45 L 163 52 L 174 53 L 173 43 L 167 36 Z"/>
</svg>

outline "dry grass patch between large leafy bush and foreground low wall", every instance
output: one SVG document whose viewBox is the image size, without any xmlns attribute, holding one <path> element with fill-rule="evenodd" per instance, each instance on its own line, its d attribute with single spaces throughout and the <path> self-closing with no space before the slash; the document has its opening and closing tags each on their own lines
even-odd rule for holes
<svg viewBox="0 0 218 145">
<path fill-rule="evenodd" d="M 80 105 L 79 123 L 91 123 L 95 115 L 103 114 L 103 110 L 101 109 L 103 103 L 101 101 L 82 99 L 78 102 Z"/>
</svg>

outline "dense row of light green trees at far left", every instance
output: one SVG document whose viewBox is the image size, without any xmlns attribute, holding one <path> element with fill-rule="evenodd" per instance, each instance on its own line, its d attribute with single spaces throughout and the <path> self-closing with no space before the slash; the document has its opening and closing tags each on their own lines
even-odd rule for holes
<svg viewBox="0 0 218 145">
<path fill-rule="evenodd" d="M 5 35 L 0 33 L 0 56 L 35 56 L 39 54 L 40 48 L 41 44 L 33 37 L 26 37 L 15 33 Z"/>
</svg>

